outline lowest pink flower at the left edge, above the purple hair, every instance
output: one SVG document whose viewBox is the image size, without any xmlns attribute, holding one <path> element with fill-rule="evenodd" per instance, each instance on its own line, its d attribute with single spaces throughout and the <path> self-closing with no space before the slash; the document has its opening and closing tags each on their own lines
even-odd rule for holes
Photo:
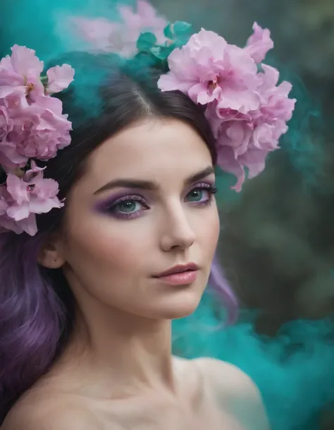
<svg viewBox="0 0 334 430">
<path fill-rule="evenodd" d="M 33 236 L 37 232 L 35 214 L 63 206 L 57 194 L 57 182 L 44 179 L 42 169 L 33 163 L 23 177 L 8 174 L 6 186 L 0 189 L 1 227 Z"/>
</svg>

